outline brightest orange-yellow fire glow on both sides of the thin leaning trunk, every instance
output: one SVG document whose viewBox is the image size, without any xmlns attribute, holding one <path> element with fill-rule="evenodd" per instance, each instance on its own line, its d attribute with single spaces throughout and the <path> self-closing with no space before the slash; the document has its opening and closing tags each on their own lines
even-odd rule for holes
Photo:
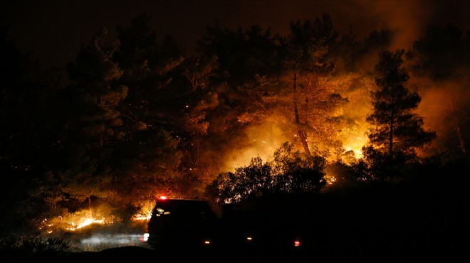
<svg viewBox="0 0 470 263">
<path fill-rule="evenodd" d="M 353 159 L 362 157 L 362 146 L 368 139 L 365 132 L 370 128 L 370 124 L 365 122 L 367 113 L 370 112 L 370 90 L 375 88 L 375 80 L 372 77 L 357 73 L 339 74 L 334 77 L 322 77 L 318 79 L 320 87 L 328 87 L 330 92 L 338 92 L 343 97 L 348 98 L 348 103 L 338 107 L 332 116 L 344 117 L 348 119 L 347 124 L 338 124 L 336 132 L 323 134 L 331 136 L 333 141 L 338 140 L 344 149 L 343 154 L 348 158 L 343 159 L 345 163 L 351 163 Z M 253 125 L 246 130 L 246 134 L 241 134 L 239 145 L 248 145 L 241 149 L 229 153 L 225 156 L 223 171 L 234 171 L 235 168 L 249 166 L 251 159 L 260 157 L 264 162 L 272 161 L 273 153 L 284 142 L 296 139 L 296 134 L 290 134 L 286 127 L 289 127 L 288 114 L 286 109 L 273 109 L 273 114 L 267 116 L 261 124 Z M 313 125 L 317 125 L 313 123 Z M 313 127 L 315 129 L 315 127 Z M 246 141 L 248 139 L 248 141 Z M 335 153 L 338 149 L 327 145 L 318 137 L 309 134 L 307 138 L 310 149 L 317 148 L 320 151 L 328 150 Z M 303 152 L 303 147 L 298 148 Z M 353 154 L 352 154 L 353 153 Z M 335 154 L 331 154 L 328 161 L 336 161 Z M 351 158 L 353 157 L 353 159 Z"/>
</svg>

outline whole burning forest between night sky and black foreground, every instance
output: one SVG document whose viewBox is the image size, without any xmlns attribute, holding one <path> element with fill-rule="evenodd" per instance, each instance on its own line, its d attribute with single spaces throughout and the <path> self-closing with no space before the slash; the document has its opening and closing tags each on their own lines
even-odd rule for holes
<svg viewBox="0 0 470 263">
<path fill-rule="evenodd" d="M 394 28 L 357 39 L 323 14 L 288 36 L 207 26 L 187 55 L 150 18 L 115 39 L 97 28 L 64 69 L 1 28 L 2 234 L 84 213 L 130 220 L 158 195 L 464 185 L 470 32 L 429 24 L 404 50 Z"/>
</svg>

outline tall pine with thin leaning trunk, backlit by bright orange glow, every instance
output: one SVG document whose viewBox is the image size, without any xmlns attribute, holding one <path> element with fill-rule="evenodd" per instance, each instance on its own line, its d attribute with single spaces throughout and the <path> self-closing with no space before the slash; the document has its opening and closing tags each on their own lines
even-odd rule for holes
<svg viewBox="0 0 470 263">
<path fill-rule="evenodd" d="M 281 78 L 290 85 L 292 132 L 298 136 L 307 155 L 310 155 L 308 136 L 327 139 L 333 132 L 330 125 L 335 119 L 334 109 L 346 102 L 335 90 L 321 84 L 333 72 L 335 63 L 328 59 L 326 41 L 331 38 L 325 37 L 332 35 L 325 30 L 333 28 L 320 26 L 323 30 L 317 32 L 318 27 L 318 23 L 315 27 L 310 21 L 297 21 L 291 23 L 291 34 L 280 39 L 284 69 Z"/>
</svg>

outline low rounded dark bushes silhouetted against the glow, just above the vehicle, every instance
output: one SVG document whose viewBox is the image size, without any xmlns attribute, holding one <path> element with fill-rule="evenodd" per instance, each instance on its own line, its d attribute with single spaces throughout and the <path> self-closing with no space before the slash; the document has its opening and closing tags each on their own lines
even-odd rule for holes
<svg viewBox="0 0 470 263">
<path fill-rule="evenodd" d="M 238 203 L 268 193 L 320 193 L 326 185 L 325 165 L 325 157 L 301 156 L 292 144 L 284 143 L 272 162 L 263 163 L 257 157 L 234 173 L 219 173 L 207 193 L 219 203 Z"/>
</svg>

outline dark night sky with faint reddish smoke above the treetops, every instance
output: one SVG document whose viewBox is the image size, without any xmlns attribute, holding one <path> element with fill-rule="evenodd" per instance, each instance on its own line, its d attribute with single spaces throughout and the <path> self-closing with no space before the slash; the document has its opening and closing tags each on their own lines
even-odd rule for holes
<svg viewBox="0 0 470 263">
<path fill-rule="evenodd" d="M 46 68 L 63 68 L 99 28 L 114 38 L 117 25 L 128 26 L 144 11 L 158 36 L 171 34 L 188 52 L 215 21 L 231 29 L 259 24 L 286 35 L 291 21 L 327 13 L 337 31 L 348 33 L 351 25 L 361 39 L 375 29 L 399 29 L 396 44 L 402 48 L 425 23 L 466 30 L 470 21 L 469 0 L 6 0 L 0 9 L 0 23 L 10 27 L 18 47 Z"/>
</svg>

